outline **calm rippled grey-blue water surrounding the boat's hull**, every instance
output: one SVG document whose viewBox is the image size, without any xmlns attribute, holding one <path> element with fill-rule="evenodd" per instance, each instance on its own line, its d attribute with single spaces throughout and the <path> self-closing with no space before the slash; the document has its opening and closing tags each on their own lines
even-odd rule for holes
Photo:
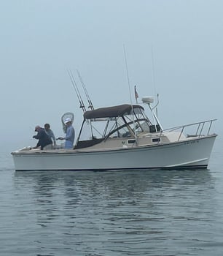
<svg viewBox="0 0 223 256">
<path fill-rule="evenodd" d="M 1 152 L 0 255 L 222 255 L 220 148 L 147 172 L 15 172 Z"/>
</svg>

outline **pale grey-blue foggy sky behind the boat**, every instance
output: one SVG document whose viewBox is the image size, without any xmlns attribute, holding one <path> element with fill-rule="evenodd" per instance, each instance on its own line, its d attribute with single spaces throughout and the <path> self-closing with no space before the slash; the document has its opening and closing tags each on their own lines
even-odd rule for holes
<svg viewBox="0 0 223 256">
<path fill-rule="evenodd" d="M 0 1 L 1 143 L 33 146 L 46 122 L 63 135 L 65 112 L 79 130 L 67 69 L 79 69 L 95 108 L 129 103 L 123 45 L 130 88 L 160 94 L 163 127 L 218 118 L 221 133 L 222 28 L 221 0 Z"/>
</svg>

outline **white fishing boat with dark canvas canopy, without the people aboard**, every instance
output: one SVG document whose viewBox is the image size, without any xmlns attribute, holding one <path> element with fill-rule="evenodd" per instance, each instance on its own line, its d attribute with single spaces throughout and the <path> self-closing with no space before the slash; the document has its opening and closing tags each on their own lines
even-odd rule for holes
<svg viewBox="0 0 223 256">
<path fill-rule="evenodd" d="M 216 119 L 163 129 L 153 102 L 87 110 L 74 148 L 21 148 L 15 170 L 207 169 Z"/>
</svg>

